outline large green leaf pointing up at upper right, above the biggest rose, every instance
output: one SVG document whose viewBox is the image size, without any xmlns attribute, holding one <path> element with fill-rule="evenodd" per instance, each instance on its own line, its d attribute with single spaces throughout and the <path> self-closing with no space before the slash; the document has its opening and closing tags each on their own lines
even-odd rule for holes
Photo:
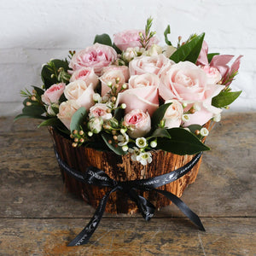
<svg viewBox="0 0 256 256">
<path fill-rule="evenodd" d="M 201 46 L 205 37 L 205 33 L 193 38 L 189 43 L 183 44 L 177 49 L 170 59 L 176 63 L 179 61 L 190 61 L 195 63 L 201 51 Z"/>
</svg>

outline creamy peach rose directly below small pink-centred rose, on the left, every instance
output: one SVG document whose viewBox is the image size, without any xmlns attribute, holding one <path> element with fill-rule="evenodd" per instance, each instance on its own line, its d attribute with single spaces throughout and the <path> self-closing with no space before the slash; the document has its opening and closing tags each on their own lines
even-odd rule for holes
<svg viewBox="0 0 256 256">
<path fill-rule="evenodd" d="M 93 90 L 93 84 L 89 86 L 83 80 L 75 80 L 67 84 L 64 90 L 64 95 L 67 100 L 74 100 L 80 107 L 89 109 L 94 105 L 93 95 L 95 91 Z"/>
</svg>

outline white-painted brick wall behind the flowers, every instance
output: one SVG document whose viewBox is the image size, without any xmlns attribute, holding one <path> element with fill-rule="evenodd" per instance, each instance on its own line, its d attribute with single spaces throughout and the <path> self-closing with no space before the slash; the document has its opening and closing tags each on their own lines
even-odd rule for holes
<svg viewBox="0 0 256 256">
<path fill-rule="evenodd" d="M 1 0 L 0 116 L 20 112 L 19 91 L 41 85 L 42 63 L 83 49 L 96 34 L 143 28 L 150 15 L 162 43 L 170 24 L 172 42 L 206 32 L 211 52 L 244 55 L 232 84 L 243 92 L 231 110 L 255 111 L 255 13 L 255 0 Z"/>
</svg>

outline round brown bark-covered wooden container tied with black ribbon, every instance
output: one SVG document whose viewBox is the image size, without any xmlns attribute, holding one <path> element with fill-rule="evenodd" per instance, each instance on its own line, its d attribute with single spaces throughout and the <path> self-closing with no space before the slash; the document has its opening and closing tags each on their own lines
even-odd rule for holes
<svg viewBox="0 0 256 256">
<path fill-rule="evenodd" d="M 57 152 L 61 159 L 79 172 L 85 172 L 87 166 L 96 166 L 103 170 L 116 181 L 127 181 L 135 179 L 143 179 L 148 177 L 155 177 L 167 172 L 176 170 L 192 160 L 194 155 L 177 155 L 167 153 L 162 150 L 153 150 L 152 162 L 148 166 L 143 166 L 138 162 L 131 160 L 130 154 L 119 156 L 113 152 L 97 151 L 93 148 L 79 148 L 72 147 L 72 141 L 62 137 L 55 129 L 49 128 L 49 132 L 54 140 Z M 177 179 L 172 183 L 166 184 L 159 189 L 165 189 L 172 192 L 172 194 L 180 197 L 186 187 L 195 182 L 201 159 L 183 177 Z M 103 195 L 109 188 L 100 188 L 90 184 L 80 183 L 66 172 L 61 170 L 63 181 L 67 190 L 71 193 L 82 197 L 84 201 L 92 207 L 97 207 Z M 165 196 L 159 195 L 154 191 L 140 192 L 149 201 L 151 201 L 156 208 L 166 207 L 171 205 Z M 137 205 L 129 199 L 122 191 L 116 191 L 110 195 L 106 212 L 112 213 L 134 213 L 137 212 Z"/>
</svg>

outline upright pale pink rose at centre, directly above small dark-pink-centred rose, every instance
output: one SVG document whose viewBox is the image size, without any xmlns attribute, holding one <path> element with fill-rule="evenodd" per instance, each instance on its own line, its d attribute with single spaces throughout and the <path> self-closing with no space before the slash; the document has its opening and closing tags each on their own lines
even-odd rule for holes
<svg viewBox="0 0 256 256">
<path fill-rule="evenodd" d="M 152 115 L 159 107 L 159 79 L 154 73 L 131 76 L 129 89 L 119 93 L 116 104 L 125 103 L 125 113 L 141 109 Z"/>
</svg>

